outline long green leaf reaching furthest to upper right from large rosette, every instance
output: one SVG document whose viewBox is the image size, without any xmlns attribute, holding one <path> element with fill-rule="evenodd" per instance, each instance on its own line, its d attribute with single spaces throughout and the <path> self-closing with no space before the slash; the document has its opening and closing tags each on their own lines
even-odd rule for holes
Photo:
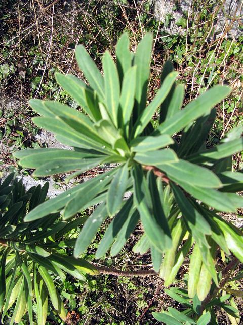
<svg viewBox="0 0 243 325">
<path fill-rule="evenodd" d="M 198 117 L 207 114 L 218 103 L 220 103 L 229 93 L 231 89 L 227 86 L 215 86 L 194 101 L 186 105 L 186 107 L 161 123 L 154 131 L 154 135 L 168 134 L 172 136 L 181 131 Z"/>
</svg>

